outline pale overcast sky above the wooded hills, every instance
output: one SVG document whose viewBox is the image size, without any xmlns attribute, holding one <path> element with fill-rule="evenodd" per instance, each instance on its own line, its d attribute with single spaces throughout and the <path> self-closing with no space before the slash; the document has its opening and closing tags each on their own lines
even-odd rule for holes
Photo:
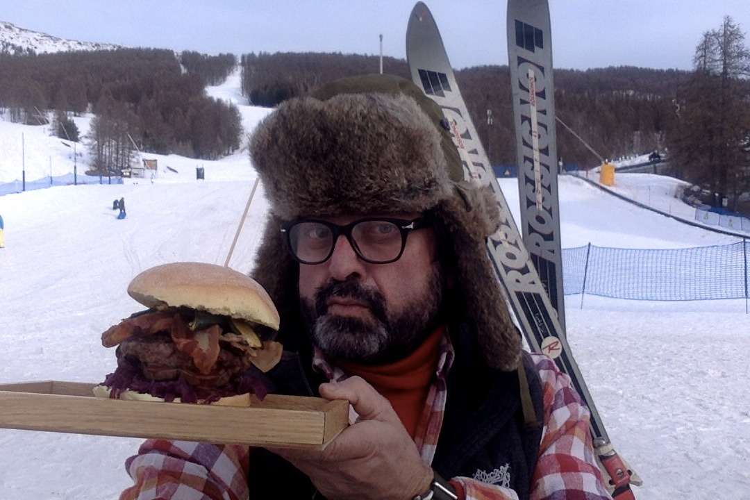
<svg viewBox="0 0 750 500">
<path fill-rule="evenodd" d="M 452 65 L 508 64 L 505 1 L 428 0 Z M 410 0 L 0 0 L 0 20 L 58 37 L 199 52 L 323 51 L 405 58 Z M 553 62 L 691 69 L 703 31 L 750 0 L 550 0 Z M 745 38 L 750 46 L 750 36 Z"/>
</svg>

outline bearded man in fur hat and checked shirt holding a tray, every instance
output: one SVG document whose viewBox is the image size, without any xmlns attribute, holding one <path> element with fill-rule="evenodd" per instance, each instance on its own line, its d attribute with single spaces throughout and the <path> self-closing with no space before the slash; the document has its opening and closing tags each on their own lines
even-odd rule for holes
<svg viewBox="0 0 750 500">
<path fill-rule="evenodd" d="M 286 349 L 273 390 L 349 400 L 352 425 L 323 451 L 149 440 L 123 499 L 610 498 L 570 380 L 521 351 L 486 254 L 495 203 L 463 181 L 448 129 L 386 75 L 257 127 L 270 214 L 254 277 Z"/>
</svg>

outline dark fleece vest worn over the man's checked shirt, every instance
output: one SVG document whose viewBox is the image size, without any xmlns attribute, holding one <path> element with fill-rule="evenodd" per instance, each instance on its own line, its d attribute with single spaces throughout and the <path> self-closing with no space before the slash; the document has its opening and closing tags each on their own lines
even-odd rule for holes
<svg viewBox="0 0 750 500">
<path fill-rule="evenodd" d="M 538 421 L 529 426 L 523 421 L 517 373 L 484 367 L 476 334 L 465 325 L 449 331 L 456 356 L 432 468 L 443 478 L 476 478 L 509 487 L 519 499 L 528 499 L 544 415 L 541 382 L 532 360 L 524 353 Z M 297 347 L 299 352 L 285 352 L 268 373 L 272 389 L 278 394 L 317 396 L 318 385 L 326 380 L 311 370 L 311 347 L 304 343 Z M 251 499 L 323 499 L 306 475 L 263 448 L 251 451 L 248 483 Z"/>
</svg>

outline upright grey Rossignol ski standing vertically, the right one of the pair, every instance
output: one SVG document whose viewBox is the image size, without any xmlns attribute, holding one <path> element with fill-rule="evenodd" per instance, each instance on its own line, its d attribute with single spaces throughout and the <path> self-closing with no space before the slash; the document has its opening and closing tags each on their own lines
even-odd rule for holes
<svg viewBox="0 0 750 500">
<path fill-rule="evenodd" d="M 523 243 L 564 329 L 555 93 L 547 0 L 508 0 L 508 61 Z"/>
</svg>

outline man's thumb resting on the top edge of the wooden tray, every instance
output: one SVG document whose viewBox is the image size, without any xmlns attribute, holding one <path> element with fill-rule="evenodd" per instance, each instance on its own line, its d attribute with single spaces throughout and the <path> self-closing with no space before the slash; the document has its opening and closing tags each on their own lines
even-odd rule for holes
<svg viewBox="0 0 750 500">
<path fill-rule="evenodd" d="M 362 420 L 401 423 L 391 403 L 360 377 L 321 384 L 319 390 L 328 400 L 348 400 Z"/>
</svg>

